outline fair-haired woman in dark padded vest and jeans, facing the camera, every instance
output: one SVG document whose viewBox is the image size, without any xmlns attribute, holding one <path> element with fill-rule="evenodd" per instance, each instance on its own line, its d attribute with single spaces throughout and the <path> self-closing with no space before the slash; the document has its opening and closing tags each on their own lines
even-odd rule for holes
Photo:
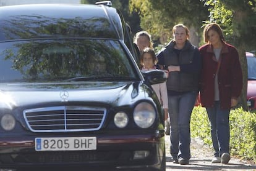
<svg viewBox="0 0 256 171">
<path fill-rule="evenodd" d="M 174 163 L 189 164 L 190 117 L 198 95 L 201 58 L 189 41 L 189 29 L 173 27 L 174 39 L 157 55 L 158 65 L 169 71 L 166 82 L 170 118 L 171 156 Z"/>
</svg>

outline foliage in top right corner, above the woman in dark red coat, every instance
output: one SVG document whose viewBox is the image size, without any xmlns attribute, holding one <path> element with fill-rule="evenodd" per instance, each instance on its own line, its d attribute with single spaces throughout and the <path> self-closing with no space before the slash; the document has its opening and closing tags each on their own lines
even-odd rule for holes
<svg viewBox="0 0 256 171">
<path fill-rule="evenodd" d="M 234 46 L 245 44 L 246 50 L 255 50 L 256 1 L 202 0 L 210 11 L 207 22 L 221 25 L 225 38 Z"/>
</svg>

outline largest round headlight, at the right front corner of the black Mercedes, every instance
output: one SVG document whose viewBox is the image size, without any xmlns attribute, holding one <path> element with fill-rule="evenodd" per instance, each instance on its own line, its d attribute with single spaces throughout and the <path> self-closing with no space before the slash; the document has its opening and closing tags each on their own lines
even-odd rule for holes
<svg viewBox="0 0 256 171">
<path fill-rule="evenodd" d="M 147 102 L 139 103 L 134 109 L 134 121 L 141 128 L 153 125 L 156 119 L 155 108 Z"/>
</svg>

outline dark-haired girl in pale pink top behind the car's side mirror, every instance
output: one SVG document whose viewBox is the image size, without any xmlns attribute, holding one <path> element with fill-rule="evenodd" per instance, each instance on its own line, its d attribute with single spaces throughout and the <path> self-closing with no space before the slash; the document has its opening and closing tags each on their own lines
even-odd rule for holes
<svg viewBox="0 0 256 171">
<path fill-rule="evenodd" d="M 156 55 L 153 49 L 146 47 L 142 52 L 142 71 L 156 70 Z M 151 85 L 153 90 L 155 91 L 158 100 L 163 105 L 164 109 L 164 121 L 168 119 L 168 97 L 167 97 L 167 89 L 166 83 L 153 84 Z"/>
</svg>

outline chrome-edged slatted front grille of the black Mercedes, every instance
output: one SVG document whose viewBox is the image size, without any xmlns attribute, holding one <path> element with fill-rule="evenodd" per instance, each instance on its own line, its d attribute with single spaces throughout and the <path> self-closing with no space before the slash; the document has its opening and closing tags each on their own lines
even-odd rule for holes
<svg viewBox="0 0 256 171">
<path fill-rule="evenodd" d="M 106 116 L 105 108 L 54 106 L 26 109 L 23 116 L 32 132 L 75 132 L 98 130 Z"/>
</svg>

